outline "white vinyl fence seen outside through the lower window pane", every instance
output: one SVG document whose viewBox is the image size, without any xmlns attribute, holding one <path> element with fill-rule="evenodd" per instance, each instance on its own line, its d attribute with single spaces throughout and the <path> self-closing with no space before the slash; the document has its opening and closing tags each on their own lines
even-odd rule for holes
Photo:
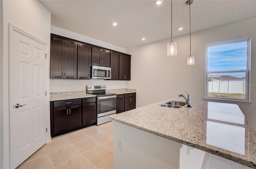
<svg viewBox="0 0 256 169">
<path fill-rule="evenodd" d="M 245 94 L 245 80 L 220 80 L 220 93 Z M 208 82 L 209 93 L 219 93 L 219 81 Z"/>
</svg>

